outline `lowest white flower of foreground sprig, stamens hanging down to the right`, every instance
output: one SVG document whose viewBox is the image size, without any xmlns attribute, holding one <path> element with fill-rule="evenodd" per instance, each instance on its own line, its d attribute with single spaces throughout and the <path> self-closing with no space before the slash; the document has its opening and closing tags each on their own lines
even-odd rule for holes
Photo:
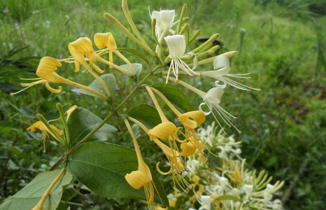
<svg viewBox="0 0 326 210">
<path fill-rule="evenodd" d="M 235 129 L 238 130 L 238 128 L 236 128 L 234 126 L 234 124 L 232 123 L 232 120 L 236 119 L 237 117 L 231 115 L 229 112 L 227 112 L 224 108 L 222 108 L 219 105 L 219 103 L 221 102 L 222 95 L 224 93 L 223 89 L 224 89 L 224 85 L 216 86 L 216 87 L 213 87 L 212 89 L 208 90 L 208 92 L 205 93 L 205 95 L 202 94 L 201 96 L 204 99 L 204 102 L 199 105 L 199 110 L 204 111 L 202 109 L 202 106 L 204 104 L 206 104 L 209 108 L 209 111 L 208 112 L 204 111 L 205 115 L 209 115 L 212 113 L 214 118 L 216 119 L 217 123 L 220 125 L 220 127 L 222 127 L 222 125 L 220 124 L 219 120 L 217 119 L 215 113 L 213 112 L 213 110 L 215 110 L 217 112 L 217 114 L 224 120 L 224 122 L 227 125 L 233 126 Z M 241 131 L 238 130 L 238 132 L 241 132 Z"/>
</svg>

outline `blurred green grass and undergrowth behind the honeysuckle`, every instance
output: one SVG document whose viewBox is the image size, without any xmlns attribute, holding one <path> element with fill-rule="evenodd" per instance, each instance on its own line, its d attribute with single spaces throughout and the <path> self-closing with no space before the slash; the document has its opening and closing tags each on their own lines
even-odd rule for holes
<svg viewBox="0 0 326 210">
<path fill-rule="evenodd" d="M 148 42 L 153 43 L 147 5 L 156 10 L 160 6 L 176 9 L 178 13 L 183 3 L 130 0 L 129 8 L 137 26 Z M 244 142 L 243 155 L 249 165 L 266 169 L 275 179 L 286 181 L 280 198 L 287 209 L 322 209 L 326 205 L 325 3 L 322 0 L 188 0 L 186 3 L 191 29 L 201 28 L 202 36 L 220 33 L 219 53 L 238 50 L 231 62 L 232 71 L 253 72 L 253 78 L 245 83 L 262 89 L 248 93 L 228 87 L 222 101 L 225 109 L 239 116 L 235 125 L 242 134 L 236 138 Z M 58 101 L 67 107 L 71 104 L 87 107 L 102 117 L 108 112 L 106 104 L 87 95 L 74 95 L 69 86 L 64 86 L 65 92 L 60 94 L 50 93 L 41 86 L 15 97 L 8 94 L 21 88 L 18 78 L 34 76 L 40 57 L 69 56 L 68 43 L 80 36 L 111 31 L 118 46 L 134 46 L 103 17 L 104 12 L 112 13 L 126 25 L 120 0 L 7 0 L 0 5 L 0 200 L 47 170 L 60 156 L 55 141 L 48 142 L 47 153 L 43 153 L 41 135 L 26 130 L 36 120 L 36 113 L 54 118 L 58 115 L 55 107 Z M 25 46 L 28 47 L 15 51 Z M 131 55 L 129 58 L 139 62 Z M 62 69 L 61 75 L 80 83 L 93 80 L 73 74 L 73 65 Z M 122 98 L 132 83 L 121 75 L 116 77 L 119 83 L 116 98 Z M 196 86 L 208 90 L 213 82 L 202 78 Z M 196 107 L 199 98 L 188 93 Z M 142 95 L 132 100 L 125 111 L 148 98 Z M 207 123 L 212 120 L 209 118 Z M 132 147 L 123 122 L 109 123 L 121 131 L 110 141 Z M 236 130 L 229 128 L 228 132 Z M 140 144 L 145 140 L 148 141 L 143 138 Z M 154 163 L 161 155 L 148 146 L 144 156 Z M 172 190 L 169 183 L 166 189 Z M 70 197 L 86 209 L 118 205 L 116 209 L 133 209 L 137 205 L 133 200 L 101 198 L 78 184 L 75 189 L 67 190 L 63 198 L 70 200 Z M 65 209 L 64 205 L 60 207 Z"/>
</svg>

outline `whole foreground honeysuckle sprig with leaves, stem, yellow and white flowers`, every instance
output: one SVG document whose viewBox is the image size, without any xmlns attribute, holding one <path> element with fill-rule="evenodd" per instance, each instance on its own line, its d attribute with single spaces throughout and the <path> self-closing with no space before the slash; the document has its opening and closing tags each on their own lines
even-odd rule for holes
<svg viewBox="0 0 326 210">
<path fill-rule="evenodd" d="M 94 31 L 93 40 L 88 37 L 76 37 L 67 43 L 67 50 L 71 56 L 59 59 L 55 58 L 56 55 L 50 55 L 51 57 L 41 58 L 36 70 L 39 77 L 25 78 L 36 81 L 21 83 L 25 88 L 16 93 L 38 84 L 45 84 L 51 92 L 64 94 L 62 85 L 70 85 L 74 87 L 72 89 L 74 92 L 102 99 L 103 103 L 108 104 L 109 109 L 103 119 L 80 104 L 74 104 L 65 111 L 63 105 L 57 103 L 59 117 L 53 119 L 46 119 L 38 113 L 39 120 L 33 122 L 27 129 L 42 133 L 44 152 L 46 142 L 51 138 L 58 142 L 64 152 L 57 162 L 51 165 L 50 171 L 39 174 L 17 194 L 5 200 L 0 206 L 1 209 L 56 209 L 64 188 L 71 180 L 78 180 L 94 193 L 105 197 L 146 200 L 149 209 L 162 209 L 164 206 L 169 207 L 171 202 L 169 204 L 157 172 L 166 176 L 166 180 L 172 180 L 169 193 L 172 190 L 180 193 L 192 192 L 198 190 L 195 189 L 196 186 L 200 186 L 201 193 L 196 193 L 199 203 L 203 206 L 201 209 L 208 208 L 207 206 L 213 202 L 203 195 L 204 190 L 209 188 L 203 187 L 198 182 L 199 174 L 196 171 L 199 165 L 205 165 L 206 169 L 209 166 L 206 150 L 215 158 L 219 154 L 214 154 L 208 148 L 203 135 L 198 133 L 198 128 L 205 123 L 206 115 L 210 113 L 213 113 L 221 128 L 225 124 L 234 126 L 232 120 L 236 117 L 220 105 L 223 92 L 227 86 L 243 90 L 255 88 L 227 78 L 228 76 L 244 78 L 247 74 L 229 73 L 230 58 L 236 54 L 235 51 L 216 55 L 219 46 L 213 46 L 212 43 L 219 37 L 218 33 L 213 34 L 199 46 L 190 48 L 200 30 L 193 33 L 190 29 L 189 17 L 185 16 L 186 4 L 177 21 L 175 21 L 176 10 L 173 9 L 154 10 L 150 14 L 151 23 L 148 26 L 151 26 L 152 42 L 145 41 L 138 31 L 126 0 L 122 0 L 122 10 L 131 30 L 113 15 L 105 13 L 104 17 L 111 23 L 108 28 L 116 26 L 139 48 L 119 48 L 113 32 Z M 93 42 L 98 50 L 94 49 Z M 121 53 L 124 51 L 133 54 L 133 57 L 127 58 Z M 118 59 L 113 59 L 113 55 L 119 57 L 125 64 L 116 64 Z M 136 58 L 145 64 L 130 61 Z M 71 72 L 66 71 L 66 74 L 79 74 L 82 67 L 83 72 L 87 72 L 83 76 L 94 80 L 87 85 L 63 77 L 62 75 L 66 75 L 64 73 L 59 75 L 59 71 L 64 71 L 62 63 L 73 65 L 75 69 Z M 206 63 L 212 63 L 214 70 L 205 71 L 201 66 Z M 170 76 L 171 72 L 175 77 Z M 134 87 L 124 98 L 114 97 L 117 84 L 115 75 L 121 73 L 135 82 Z M 200 76 L 214 78 L 215 85 L 209 90 L 200 90 L 190 84 L 193 81 L 190 78 L 198 79 Z M 83 79 L 85 80 L 87 79 Z M 50 83 L 53 86 L 50 86 Z M 181 88 L 174 83 L 179 83 Z M 193 108 L 193 104 L 183 92 L 184 87 L 203 99 L 204 102 L 196 104 L 198 108 Z M 131 109 L 125 111 L 124 105 L 136 94 L 149 96 L 153 105 L 134 104 Z M 206 109 L 204 105 L 207 106 Z M 168 114 L 170 111 L 172 114 Z M 112 117 L 124 122 L 125 128 L 121 132 L 129 133 L 128 140 L 132 142 L 133 148 L 105 142 L 117 131 L 114 126 L 108 124 Z M 218 118 L 225 123 L 220 122 Z M 143 156 L 144 144 L 142 142 L 138 144 L 130 123 L 139 126 L 145 136 L 148 136 L 146 138 L 148 143 L 152 141 L 153 145 L 161 150 L 161 154 L 166 156 L 164 161 L 157 160 L 154 167 L 156 171 Z M 225 174 L 231 174 L 235 170 L 239 170 L 237 165 L 228 169 L 229 172 Z M 246 174 L 241 170 L 239 175 L 243 177 Z M 234 175 L 232 177 L 237 178 Z M 40 184 L 35 185 L 35 182 Z M 253 190 L 249 190 L 250 187 L 247 185 L 243 185 L 243 189 L 253 195 L 256 185 L 250 181 L 245 184 L 252 184 Z M 257 191 L 255 196 L 261 194 L 265 196 L 265 192 L 272 191 Z M 269 194 L 266 194 L 266 199 L 268 197 Z"/>
</svg>

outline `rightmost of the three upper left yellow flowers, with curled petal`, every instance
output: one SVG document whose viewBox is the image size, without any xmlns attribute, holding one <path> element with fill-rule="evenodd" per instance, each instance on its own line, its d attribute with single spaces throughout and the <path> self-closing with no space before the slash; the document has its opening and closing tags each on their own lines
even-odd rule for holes
<svg viewBox="0 0 326 210">
<path fill-rule="evenodd" d="M 128 64 L 133 74 L 136 74 L 136 71 L 130 61 L 123 56 L 119 50 L 117 50 L 117 45 L 114 40 L 112 33 L 95 33 L 94 34 L 94 42 L 98 48 L 104 48 L 105 46 L 109 49 L 109 61 L 113 63 L 113 53 L 115 53 L 118 57 L 120 57 L 125 63 Z M 110 65 L 110 68 L 113 68 Z"/>
</svg>

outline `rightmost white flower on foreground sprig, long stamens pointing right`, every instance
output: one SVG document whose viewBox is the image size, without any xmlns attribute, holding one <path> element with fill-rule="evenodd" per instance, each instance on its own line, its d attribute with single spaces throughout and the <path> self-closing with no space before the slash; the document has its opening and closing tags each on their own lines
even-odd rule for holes
<svg viewBox="0 0 326 210">
<path fill-rule="evenodd" d="M 251 78 L 249 75 L 250 73 L 243 73 L 243 74 L 230 74 L 230 57 L 232 57 L 234 54 L 236 54 L 236 51 L 231 51 L 229 53 L 224 53 L 221 55 L 216 56 L 214 59 L 213 65 L 215 70 L 211 71 L 201 71 L 202 76 L 209 76 L 212 78 L 217 79 L 218 81 L 222 81 L 225 84 L 229 84 L 231 86 L 234 86 L 238 89 L 242 90 L 260 90 L 258 88 L 253 88 L 244 84 L 241 84 L 240 82 L 234 81 L 232 79 L 227 78 L 226 76 L 230 77 L 236 77 L 236 78 Z"/>
</svg>

